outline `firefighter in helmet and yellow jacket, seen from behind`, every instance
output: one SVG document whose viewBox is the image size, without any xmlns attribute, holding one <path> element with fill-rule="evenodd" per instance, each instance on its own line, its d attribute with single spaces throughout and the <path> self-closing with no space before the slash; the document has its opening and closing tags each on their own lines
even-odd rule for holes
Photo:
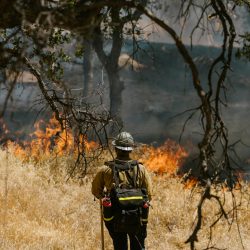
<svg viewBox="0 0 250 250">
<path fill-rule="evenodd" d="M 131 250 L 143 250 L 145 249 L 145 239 L 147 237 L 148 210 L 149 201 L 151 200 L 151 180 L 146 168 L 141 163 L 130 158 L 130 153 L 135 145 L 134 139 L 130 133 L 121 132 L 117 135 L 116 139 L 112 141 L 112 145 L 115 147 L 116 158 L 114 161 L 105 163 L 105 165 L 97 172 L 92 182 L 92 194 L 96 198 L 102 199 L 104 222 L 113 240 L 114 250 L 127 250 L 128 237 Z M 118 166 L 118 169 L 120 168 L 124 170 L 118 172 L 118 178 L 116 178 L 114 174 L 116 166 Z M 129 167 L 126 169 L 126 166 Z M 140 211 L 140 225 L 136 231 L 133 231 L 135 230 L 136 225 L 129 224 L 124 227 L 122 225 L 123 222 L 117 222 L 116 217 L 119 217 L 117 212 L 119 208 L 113 204 L 115 202 L 114 199 L 112 199 L 112 191 L 115 189 L 116 183 L 118 182 L 119 188 L 122 188 L 131 185 L 131 182 L 133 182 L 131 180 L 134 180 L 134 185 L 137 188 L 133 190 L 142 190 L 142 196 L 144 198 L 146 197 L 146 200 L 144 199 L 143 201 L 143 206 L 138 210 Z M 133 195 L 133 197 L 140 197 L 140 195 L 136 194 Z M 133 197 L 129 197 L 127 200 L 131 202 Z M 123 198 L 123 201 L 124 200 L 126 200 L 126 198 Z M 122 210 L 122 213 L 124 213 L 124 210 Z M 129 221 L 131 222 L 132 219 L 129 218 Z M 126 229 L 117 229 L 121 226 L 123 226 L 123 229 Z"/>
</svg>

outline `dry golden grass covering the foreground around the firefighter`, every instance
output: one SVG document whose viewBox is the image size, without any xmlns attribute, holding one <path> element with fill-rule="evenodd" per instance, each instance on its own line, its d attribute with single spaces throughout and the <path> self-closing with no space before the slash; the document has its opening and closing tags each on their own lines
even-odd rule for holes
<svg viewBox="0 0 250 250">
<path fill-rule="evenodd" d="M 0 249 L 101 249 L 99 203 L 91 195 L 91 175 L 81 183 L 65 181 L 68 161 L 21 163 L 0 151 Z M 178 179 L 152 174 L 153 209 L 148 226 L 147 249 L 189 249 L 184 242 L 195 219 L 198 191 L 184 189 Z M 249 189 L 248 187 L 246 188 Z M 229 192 L 219 192 L 227 197 Z M 235 193 L 240 201 L 240 192 Z M 245 249 L 250 249 L 249 198 L 242 197 L 238 214 Z M 208 201 L 198 249 L 207 246 L 209 225 L 218 206 Z M 224 249 L 242 249 L 236 224 L 222 220 L 213 232 L 213 243 Z M 105 249 L 112 249 L 105 230 Z"/>
</svg>

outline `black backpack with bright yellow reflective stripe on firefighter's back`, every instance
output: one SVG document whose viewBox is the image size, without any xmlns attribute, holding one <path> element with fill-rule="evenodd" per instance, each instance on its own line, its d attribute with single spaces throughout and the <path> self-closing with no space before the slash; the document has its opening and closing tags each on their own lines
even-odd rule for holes
<svg viewBox="0 0 250 250">
<path fill-rule="evenodd" d="M 148 201 L 147 190 L 137 187 L 139 164 L 137 161 L 119 163 L 117 161 L 108 162 L 111 167 L 115 186 L 111 190 L 110 198 L 114 219 L 112 221 L 115 232 L 138 233 L 142 226 L 142 217 L 145 216 L 143 205 Z M 131 176 L 128 172 L 133 170 Z M 125 171 L 129 183 L 120 184 L 119 172 Z"/>
</svg>

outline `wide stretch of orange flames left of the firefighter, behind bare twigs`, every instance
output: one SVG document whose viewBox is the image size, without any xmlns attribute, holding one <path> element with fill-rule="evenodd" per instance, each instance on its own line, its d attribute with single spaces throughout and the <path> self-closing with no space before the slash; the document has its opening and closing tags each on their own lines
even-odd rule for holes
<svg viewBox="0 0 250 250">
<path fill-rule="evenodd" d="M 71 129 L 61 130 L 60 123 L 55 116 L 46 123 L 40 120 L 34 125 L 35 131 L 30 134 L 31 140 L 21 144 L 8 142 L 15 156 L 28 160 L 29 158 L 41 160 L 51 156 L 63 156 L 77 153 L 76 138 Z M 86 136 L 78 139 L 87 151 L 98 147 L 96 142 L 89 142 Z"/>
</svg>

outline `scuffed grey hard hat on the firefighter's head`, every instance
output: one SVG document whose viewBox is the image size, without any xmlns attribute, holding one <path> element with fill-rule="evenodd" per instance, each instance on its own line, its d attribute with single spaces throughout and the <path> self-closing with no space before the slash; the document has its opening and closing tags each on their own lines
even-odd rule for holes
<svg viewBox="0 0 250 250">
<path fill-rule="evenodd" d="M 117 135 L 115 140 L 112 141 L 112 145 L 115 147 L 115 149 L 131 152 L 134 149 L 135 142 L 130 133 L 121 132 Z"/>
</svg>

